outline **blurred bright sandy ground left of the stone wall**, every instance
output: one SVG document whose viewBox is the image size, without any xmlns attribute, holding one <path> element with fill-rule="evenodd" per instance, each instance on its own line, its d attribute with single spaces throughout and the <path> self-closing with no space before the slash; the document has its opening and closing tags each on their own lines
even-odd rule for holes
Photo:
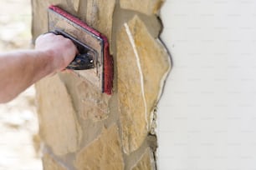
<svg viewBox="0 0 256 170">
<path fill-rule="evenodd" d="M 29 48 L 30 30 L 30 0 L 1 0 L 0 52 Z M 38 133 L 34 95 L 29 87 L 12 102 L 0 104 L 0 170 L 43 169 L 33 147 Z"/>
</svg>

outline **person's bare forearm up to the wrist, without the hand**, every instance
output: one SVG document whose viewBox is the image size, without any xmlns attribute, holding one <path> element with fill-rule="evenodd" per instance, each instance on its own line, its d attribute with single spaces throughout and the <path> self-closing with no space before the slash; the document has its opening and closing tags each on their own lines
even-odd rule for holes
<svg viewBox="0 0 256 170">
<path fill-rule="evenodd" d="M 0 54 L 0 103 L 8 102 L 54 71 L 52 56 L 43 51 L 26 50 Z"/>
</svg>

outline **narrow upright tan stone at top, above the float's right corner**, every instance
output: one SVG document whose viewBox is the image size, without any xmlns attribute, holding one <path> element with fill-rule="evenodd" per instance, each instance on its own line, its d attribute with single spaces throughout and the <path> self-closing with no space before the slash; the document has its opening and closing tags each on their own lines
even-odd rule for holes
<svg viewBox="0 0 256 170">
<path fill-rule="evenodd" d="M 111 39 L 115 0 L 88 0 L 86 23 Z"/>
</svg>

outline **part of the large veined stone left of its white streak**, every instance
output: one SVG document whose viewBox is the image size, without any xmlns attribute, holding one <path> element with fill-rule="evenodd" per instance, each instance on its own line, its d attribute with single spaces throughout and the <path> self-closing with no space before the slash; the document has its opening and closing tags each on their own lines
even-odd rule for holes
<svg viewBox="0 0 256 170">
<path fill-rule="evenodd" d="M 141 75 L 125 28 L 117 39 L 117 90 L 122 141 L 125 153 L 140 147 L 147 134 L 146 106 L 141 92 Z M 120 44 L 120 45 L 119 45 Z"/>
</svg>

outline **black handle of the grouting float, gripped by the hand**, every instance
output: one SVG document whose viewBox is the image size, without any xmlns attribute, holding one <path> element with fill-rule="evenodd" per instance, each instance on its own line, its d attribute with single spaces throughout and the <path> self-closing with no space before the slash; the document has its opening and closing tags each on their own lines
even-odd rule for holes
<svg viewBox="0 0 256 170">
<path fill-rule="evenodd" d="M 79 51 L 79 54 L 74 57 L 74 60 L 67 67 L 68 69 L 86 70 L 95 67 L 95 57 L 97 56 L 95 50 L 93 50 L 91 47 L 88 47 L 84 43 L 79 42 L 79 40 L 62 30 L 54 30 L 52 33 L 69 38 L 72 40 L 72 42 L 74 42 L 74 45 Z"/>
</svg>

